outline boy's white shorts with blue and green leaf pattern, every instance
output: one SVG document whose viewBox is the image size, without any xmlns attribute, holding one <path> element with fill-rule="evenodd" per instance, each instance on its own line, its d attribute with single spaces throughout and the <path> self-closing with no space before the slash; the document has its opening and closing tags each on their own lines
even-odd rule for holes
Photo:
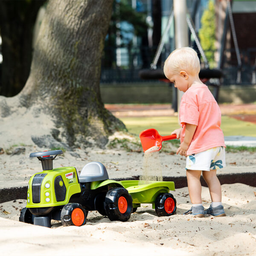
<svg viewBox="0 0 256 256">
<path fill-rule="evenodd" d="M 210 171 L 226 167 L 225 147 L 215 147 L 186 158 L 186 170 Z"/>
</svg>

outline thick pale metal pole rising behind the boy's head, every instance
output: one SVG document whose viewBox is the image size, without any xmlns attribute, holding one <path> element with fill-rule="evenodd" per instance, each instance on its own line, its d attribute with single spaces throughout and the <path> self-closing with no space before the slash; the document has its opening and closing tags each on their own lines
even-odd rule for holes
<svg viewBox="0 0 256 256">
<path fill-rule="evenodd" d="M 186 22 L 186 0 L 173 0 L 173 11 L 175 20 L 175 48 L 188 47 L 188 25 Z M 177 109 L 179 111 L 183 92 L 178 90 Z"/>
</svg>

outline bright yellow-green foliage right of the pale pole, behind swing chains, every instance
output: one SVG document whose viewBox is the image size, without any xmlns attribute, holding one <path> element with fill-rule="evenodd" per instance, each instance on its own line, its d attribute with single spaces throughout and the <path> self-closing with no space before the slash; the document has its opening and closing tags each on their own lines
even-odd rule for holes
<svg viewBox="0 0 256 256">
<path fill-rule="evenodd" d="M 215 47 L 215 7 L 214 1 L 210 0 L 201 18 L 202 27 L 199 31 L 199 38 L 210 66 L 214 65 Z"/>
</svg>

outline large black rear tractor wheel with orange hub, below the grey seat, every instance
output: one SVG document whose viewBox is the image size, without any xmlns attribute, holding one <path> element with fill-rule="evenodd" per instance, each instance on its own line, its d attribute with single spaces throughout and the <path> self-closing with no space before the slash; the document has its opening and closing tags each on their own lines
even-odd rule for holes
<svg viewBox="0 0 256 256">
<path fill-rule="evenodd" d="M 106 195 L 104 206 L 111 221 L 128 221 L 133 211 L 132 197 L 124 188 L 110 189 Z"/>
</svg>

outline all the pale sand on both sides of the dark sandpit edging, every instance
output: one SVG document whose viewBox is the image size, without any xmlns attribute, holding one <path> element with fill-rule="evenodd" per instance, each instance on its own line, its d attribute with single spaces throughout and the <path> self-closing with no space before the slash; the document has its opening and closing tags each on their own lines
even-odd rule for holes
<svg viewBox="0 0 256 256">
<path fill-rule="evenodd" d="M 113 138 L 134 137 L 114 134 Z M 14 142 L 8 138 L 10 145 Z M 19 144 L 19 142 L 16 142 Z M 20 145 L 13 145 L 12 151 Z M 1 144 L 0 144 L 1 147 Z M 2 146 L 3 147 L 3 146 Z M 36 145 L 22 145 L 18 154 L 0 154 L 0 188 L 27 186 L 29 177 L 41 172 L 41 163 L 29 159 L 31 152 L 44 151 Z M 171 145 L 170 145 L 171 147 Z M 161 149 L 163 150 L 163 149 Z M 185 176 L 185 157 L 160 151 L 159 160 L 163 176 Z M 66 151 L 54 160 L 54 167 L 76 166 L 78 172 L 90 161 L 102 162 L 110 178 L 125 178 L 143 174 L 143 152 L 137 148 L 127 152 L 122 146 L 100 149 L 87 148 Z M 218 173 L 232 174 L 255 172 L 256 154 L 249 152 L 227 153 L 227 167 Z M 113 221 L 89 212 L 82 227 L 62 227 L 52 223 L 52 228 L 39 227 L 18 221 L 19 212 L 26 201 L 17 200 L 0 204 L 0 251 L 8 255 L 250 255 L 256 256 L 256 187 L 241 183 L 224 184 L 223 205 L 226 217 L 195 218 L 182 215 L 190 209 L 187 187 L 172 194 L 177 200 L 177 212 L 170 217 L 158 217 L 151 205 L 143 204 L 127 222 Z M 202 189 L 204 207 L 209 207 L 210 197 Z"/>
</svg>

